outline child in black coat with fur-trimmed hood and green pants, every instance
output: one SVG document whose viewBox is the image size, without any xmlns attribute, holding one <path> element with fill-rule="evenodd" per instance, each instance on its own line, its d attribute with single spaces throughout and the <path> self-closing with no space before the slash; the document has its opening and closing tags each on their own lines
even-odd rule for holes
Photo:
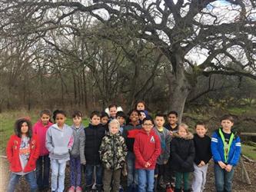
<svg viewBox="0 0 256 192">
<path fill-rule="evenodd" d="M 181 191 L 183 178 L 184 192 L 189 189 L 189 172 L 194 171 L 193 134 L 188 131 L 187 124 L 180 124 L 178 132 L 173 134 L 171 141 L 171 167 L 175 170 L 175 192 Z"/>
</svg>

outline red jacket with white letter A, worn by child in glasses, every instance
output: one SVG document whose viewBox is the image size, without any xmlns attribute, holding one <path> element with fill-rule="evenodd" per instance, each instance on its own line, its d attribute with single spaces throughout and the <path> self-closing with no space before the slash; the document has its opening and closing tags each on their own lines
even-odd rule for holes
<svg viewBox="0 0 256 192">
<path fill-rule="evenodd" d="M 153 129 L 149 134 L 144 129 L 139 131 L 135 137 L 134 152 L 136 169 L 155 169 L 157 158 L 161 154 L 161 144 Z M 145 167 L 147 162 L 149 167 Z"/>
</svg>

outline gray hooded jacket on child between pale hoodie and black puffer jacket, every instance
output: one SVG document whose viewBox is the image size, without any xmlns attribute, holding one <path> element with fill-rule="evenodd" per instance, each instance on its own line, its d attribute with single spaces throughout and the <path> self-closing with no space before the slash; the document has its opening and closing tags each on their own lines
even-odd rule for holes
<svg viewBox="0 0 256 192">
<path fill-rule="evenodd" d="M 85 164 L 85 127 L 81 124 L 76 128 L 73 124 L 71 126 L 73 130 L 74 144 L 70 152 L 72 157 L 79 157 L 81 164 Z"/>
</svg>

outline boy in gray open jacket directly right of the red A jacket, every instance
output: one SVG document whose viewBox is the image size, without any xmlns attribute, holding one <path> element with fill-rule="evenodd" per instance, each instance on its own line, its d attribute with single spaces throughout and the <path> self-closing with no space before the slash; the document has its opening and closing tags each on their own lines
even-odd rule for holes
<svg viewBox="0 0 256 192">
<path fill-rule="evenodd" d="M 161 176 L 164 178 L 165 183 L 168 183 L 166 178 L 168 172 L 168 159 L 170 157 L 170 142 L 171 135 L 169 131 L 164 127 L 165 124 L 165 115 L 156 114 L 155 116 L 155 127 L 154 131 L 158 134 L 158 137 L 161 142 L 161 154 L 158 157 L 157 164 L 155 166 L 155 191 L 161 190 L 160 179 Z"/>
</svg>

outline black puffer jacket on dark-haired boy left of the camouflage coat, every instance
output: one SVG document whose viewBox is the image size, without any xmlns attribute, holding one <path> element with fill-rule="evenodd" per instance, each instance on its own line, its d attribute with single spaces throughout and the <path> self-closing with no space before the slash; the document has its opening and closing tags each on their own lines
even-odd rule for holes
<svg viewBox="0 0 256 192">
<path fill-rule="evenodd" d="M 101 146 L 102 138 L 105 136 L 105 127 L 101 124 L 89 124 L 85 128 L 85 160 L 86 164 L 96 165 L 101 164 L 99 147 Z"/>
</svg>

